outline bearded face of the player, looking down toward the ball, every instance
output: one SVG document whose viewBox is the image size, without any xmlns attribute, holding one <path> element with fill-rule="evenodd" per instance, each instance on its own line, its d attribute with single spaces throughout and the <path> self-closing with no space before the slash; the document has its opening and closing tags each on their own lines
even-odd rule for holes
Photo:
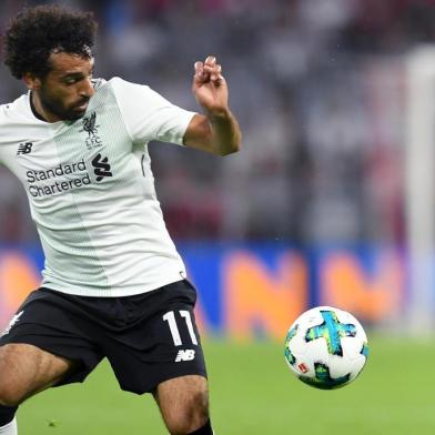
<svg viewBox="0 0 435 435">
<path fill-rule="evenodd" d="M 93 58 L 57 52 L 50 61 L 51 70 L 36 90 L 42 115 L 51 122 L 82 118 L 94 94 Z"/>
</svg>

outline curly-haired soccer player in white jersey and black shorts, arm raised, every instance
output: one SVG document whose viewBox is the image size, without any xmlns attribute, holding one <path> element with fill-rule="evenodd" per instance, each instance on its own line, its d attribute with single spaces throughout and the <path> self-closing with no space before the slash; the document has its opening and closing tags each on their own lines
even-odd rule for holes
<svg viewBox="0 0 435 435">
<path fill-rule="evenodd" d="M 204 114 L 190 112 L 146 85 L 93 79 L 95 27 L 89 12 L 40 6 L 6 32 L 6 64 L 29 92 L 0 107 L 0 161 L 24 185 L 45 264 L 0 338 L 0 434 L 17 434 L 24 399 L 82 382 L 103 357 L 122 390 L 153 394 L 171 434 L 213 434 L 196 293 L 148 142 L 225 155 L 241 132 L 214 57 L 194 65 Z"/>
</svg>

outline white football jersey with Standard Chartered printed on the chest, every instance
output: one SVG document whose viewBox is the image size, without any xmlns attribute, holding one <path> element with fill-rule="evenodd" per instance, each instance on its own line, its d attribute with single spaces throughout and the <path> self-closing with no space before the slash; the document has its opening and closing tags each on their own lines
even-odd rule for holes
<svg viewBox="0 0 435 435">
<path fill-rule="evenodd" d="M 165 227 L 148 142 L 182 144 L 194 115 L 149 87 L 95 80 L 77 121 L 0 107 L 0 161 L 22 182 L 45 255 L 42 286 L 85 296 L 149 292 L 185 276 Z"/>
</svg>

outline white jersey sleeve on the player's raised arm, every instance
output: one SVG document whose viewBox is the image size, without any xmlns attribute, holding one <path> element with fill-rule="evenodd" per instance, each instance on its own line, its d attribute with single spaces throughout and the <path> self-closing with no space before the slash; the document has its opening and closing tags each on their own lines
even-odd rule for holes
<svg viewBox="0 0 435 435">
<path fill-rule="evenodd" d="M 146 85 L 120 78 L 110 82 L 134 142 L 158 140 L 183 144 L 184 133 L 195 112 L 172 104 Z"/>
</svg>

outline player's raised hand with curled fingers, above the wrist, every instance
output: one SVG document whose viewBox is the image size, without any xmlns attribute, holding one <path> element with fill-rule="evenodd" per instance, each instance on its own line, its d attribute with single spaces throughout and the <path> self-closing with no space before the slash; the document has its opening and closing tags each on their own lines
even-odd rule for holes
<svg viewBox="0 0 435 435">
<path fill-rule="evenodd" d="M 209 55 L 204 62 L 195 62 L 192 92 L 198 103 L 209 115 L 221 115 L 229 111 L 229 90 L 221 74 L 216 58 Z"/>
</svg>

